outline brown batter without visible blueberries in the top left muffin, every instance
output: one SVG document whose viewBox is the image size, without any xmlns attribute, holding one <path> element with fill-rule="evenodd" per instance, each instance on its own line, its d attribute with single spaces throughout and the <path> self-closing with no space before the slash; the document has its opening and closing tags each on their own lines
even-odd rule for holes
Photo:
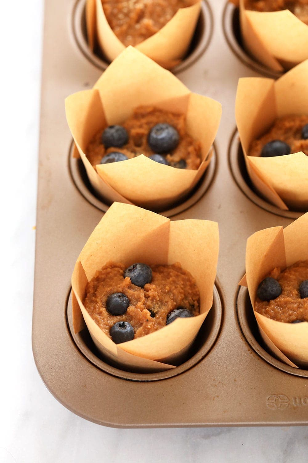
<svg viewBox="0 0 308 463">
<path fill-rule="evenodd" d="M 186 6 L 188 0 L 103 0 L 106 19 L 126 47 L 154 35 Z"/>
</svg>

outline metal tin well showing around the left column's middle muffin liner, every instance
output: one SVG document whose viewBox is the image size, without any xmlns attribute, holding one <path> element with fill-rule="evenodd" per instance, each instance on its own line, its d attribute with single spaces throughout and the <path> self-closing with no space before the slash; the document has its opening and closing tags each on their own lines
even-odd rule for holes
<svg viewBox="0 0 308 463">
<path fill-rule="evenodd" d="M 72 181 L 79 193 L 102 212 L 106 212 L 110 206 L 109 203 L 104 202 L 98 197 L 97 193 L 91 186 L 91 183 L 87 177 L 84 164 L 80 159 L 73 157 L 73 143 L 71 144 L 68 154 L 69 170 Z M 193 190 L 180 202 L 177 201 L 175 205 L 167 211 L 155 211 L 159 212 L 165 217 L 173 217 L 176 214 L 186 211 L 189 207 L 192 207 L 198 202 L 210 188 L 212 181 L 214 180 L 215 173 L 217 171 L 217 151 L 215 145 L 213 145 L 213 155 L 208 168 L 205 170 L 205 174 L 201 177 L 197 185 Z"/>
</svg>

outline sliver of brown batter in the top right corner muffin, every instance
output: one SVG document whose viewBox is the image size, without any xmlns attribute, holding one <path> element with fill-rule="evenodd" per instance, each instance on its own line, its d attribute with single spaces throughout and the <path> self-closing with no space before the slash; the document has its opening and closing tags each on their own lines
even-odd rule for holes
<svg viewBox="0 0 308 463">
<path fill-rule="evenodd" d="M 245 6 L 254 11 L 290 10 L 298 19 L 308 24 L 308 0 L 247 0 Z"/>
</svg>

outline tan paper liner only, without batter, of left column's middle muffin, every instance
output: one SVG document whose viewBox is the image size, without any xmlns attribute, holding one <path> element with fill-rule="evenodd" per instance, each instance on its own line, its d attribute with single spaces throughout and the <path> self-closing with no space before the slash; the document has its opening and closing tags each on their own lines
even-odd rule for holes
<svg viewBox="0 0 308 463">
<path fill-rule="evenodd" d="M 123 123 L 136 107 L 147 105 L 186 114 L 187 132 L 202 144 L 199 169 L 175 169 L 140 155 L 120 163 L 97 165 L 96 171 L 85 156 L 91 138 L 107 125 Z M 191 93 L 169 71 L 133 47 L 110 64 L 92 90 L 66 98 L 65 107 L 79 155 L 97 193 L 109 202 L 156 210 L 180 200 L 204 174 L 221 117 L 220 103 Z"/>
</svg>

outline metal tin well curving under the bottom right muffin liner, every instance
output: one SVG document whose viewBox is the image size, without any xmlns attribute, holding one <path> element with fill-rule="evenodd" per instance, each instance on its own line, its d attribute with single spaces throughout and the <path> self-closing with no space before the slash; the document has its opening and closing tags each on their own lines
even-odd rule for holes
<svg viewBox="0 0 308 463">
<path fill-rule="evenodd" d="M 272 353 L 268 352 L 266 344 L 263 342 L 257 321 L 254 316 L 254 310 L 251 305 L 248 289 L 243 286 L 239 287 L 236 297 L 236 313 L 239 324 L 242 329 L 242 333 L 245 336 L 248 344 L 254 349 L 254 351 L 265 360 L 270 363 L 273 367 L 289 373 L 290 375 L 301 376 L 302 378 L 308 378 L 308 370 L 293 368 L 285 363 L 281 362 L 277 358 L 272 356 Z"/>
</svg>

